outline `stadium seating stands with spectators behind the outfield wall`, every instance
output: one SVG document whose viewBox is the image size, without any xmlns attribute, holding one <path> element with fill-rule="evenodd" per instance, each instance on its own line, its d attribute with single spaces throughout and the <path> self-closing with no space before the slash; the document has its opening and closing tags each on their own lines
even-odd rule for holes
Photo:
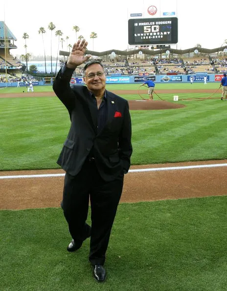
<svg viewBox="0 0 227 291">
<path fill-rule="evenodd" d="M 10 49 L 17 49 L 14 44 L 15 41 L 17 41 L 16 37 L 7 25 L 4 26 L 4 22 L 0 21 L 0 71 L 4 73 L 7 69 L 7 73 L 11 74 L 12 77 L 22 78 L 23 72 L 20 69 L 24 65 L 20 60 L 10 54 Z M 194 53 L 195 49 L 199 51 L 197 55 Z M 166 49 L 135 49 L 124 51 L 113 49 L 105 52 L 88 50 L 87 53 L 103 63 L 107 75 L 194 74 L 199 72 L 226 72 L 227 58 L 224 49 L 227 49 L 227 46 L 216 49 L 191 48 L 179 50 L 169 48 L 168 55 L 166 54 Z M 64 56 L 62 65 L 67 60 L 68 54 L 69 52 L 59 51 L 59 55 Z M 224 57 L 221 58 L 220 55 Z M 216 58 L 217 56 L 219 58 Z M 5 58 L 7 60 L 6 68 Z M 74 75 L 81 76 L 82 70 L 83 65 L 76 68 Z"/>
</svg>

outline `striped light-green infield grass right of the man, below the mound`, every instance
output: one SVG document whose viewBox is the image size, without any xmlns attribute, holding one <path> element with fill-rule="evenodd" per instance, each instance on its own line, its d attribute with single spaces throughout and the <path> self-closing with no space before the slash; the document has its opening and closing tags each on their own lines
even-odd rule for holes
<svg viewBox="0 0 227 291">
<path fill-rule="evenodd" d="M 203 106 L 202 111 L 186 111 L 184 114 L 178 110 L 165 110 L 161 118 L 160 112 L 143 114 L 134 111 L 133 158 L 143 164 L 146 160 L 147 163 L 165 163 L 169 160 L 177 162 L 226 157 L 227 150 L 223 145 L 223 139 L 226 141 L 226 108 L 222 104 L 218 104 L 216 110 L 211 107 Z M 139 123 L 141 116 L 143 121 Z M 221 143 L 217 144 L 220 137 Z M 215 146 L 216 150 L 212 150 Z"/>
</svg>

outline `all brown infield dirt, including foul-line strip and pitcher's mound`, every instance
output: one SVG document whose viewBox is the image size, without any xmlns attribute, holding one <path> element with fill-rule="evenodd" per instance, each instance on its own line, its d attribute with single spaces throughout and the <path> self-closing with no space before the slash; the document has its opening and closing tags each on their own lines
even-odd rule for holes
<svg viewBox="0 0 227 291">
<path fill-rule="evenodd" d="M 213 90 L 192 90 L 191 92 L 211 94 Z M 136 94 L 137 91 L 113 91 L 115 94 Z M 146 93 L 147 91 L 144 91 Z M 189 90 L 162 90 L 160 93 L 180 94 Z M 32 92 L 19 94 L 0 94 L 0 97 L 47 97 L 54 92 Z M 162 100 L 130 100 L 131 110 L 173 109 L 184 105 L 179 102 Z M 130 169 L 154 169 L 173 167 L 172 170 L 149 170 L 129 172 L 125 175 L 123 193 L 120 202 L 153 201 L 227 195 L 226 166 L 180 170 L 175 167 L 211 164 L 226 164 L 227 160 L 199 161 L 188 163 L 132 166 Z M 62 176 L 29 177 L 37 174 L 56 174 Z M 63 170 L 0 171 L 0 209 L 26 209 L 60 207 L 64 183 Z M 28 175 L 27 178 L 10 178 L 9 176 Z"/>
</svg>

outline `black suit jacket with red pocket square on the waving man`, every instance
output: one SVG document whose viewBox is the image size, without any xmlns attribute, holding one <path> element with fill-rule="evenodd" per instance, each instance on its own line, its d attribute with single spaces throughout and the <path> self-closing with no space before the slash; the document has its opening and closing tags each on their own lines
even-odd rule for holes
<svg viewBox="0 0 227 291">
<path fill-rule="evenodd" d="M 106 90 L 107 122 L 97 133 L 97 112 L 87 86 L 70 86 L 71 70 L 59 71 L 53 83 L 57 97 L 68 109 L 71 126 L 57 163 L 75 176 L 91 148 L 97 169 L 105 181 L 127 173 L 132 155 L 131 118 L 128 101 Z"/>
</svg>

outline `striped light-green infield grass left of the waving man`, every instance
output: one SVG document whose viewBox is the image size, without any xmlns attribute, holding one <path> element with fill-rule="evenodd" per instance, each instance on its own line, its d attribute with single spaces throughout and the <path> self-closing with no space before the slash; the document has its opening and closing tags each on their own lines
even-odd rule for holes
<svg viewBox="0 0 227 291">
<path fill-rule="evenodd" d="M 54 97 L 4 100 L 8 110 L 1 106 L 1 170 L 10 170 L 13 160 L 15 170 L 58 167 L 57 155 L 70 125 L 64 105 Z M 47 156 L 51 163 L 46 163 Z"/>
</svg>

